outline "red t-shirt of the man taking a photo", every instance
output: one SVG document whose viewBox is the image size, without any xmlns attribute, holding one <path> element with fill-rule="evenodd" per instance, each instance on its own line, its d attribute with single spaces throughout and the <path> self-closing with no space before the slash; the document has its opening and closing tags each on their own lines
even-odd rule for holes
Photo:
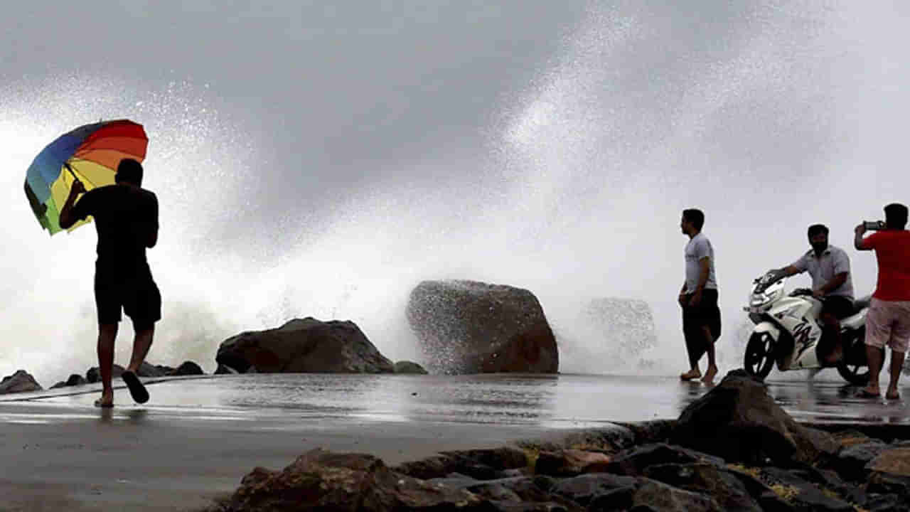
<svg viewBox="0 0 910 512">
<path fill-rule="evenodd" d="M 878 283 L 873 297 L 880 301 L 910 301 L 910 231 L 883 230 L 863 239 L 875 249 Z"/>
</svg>

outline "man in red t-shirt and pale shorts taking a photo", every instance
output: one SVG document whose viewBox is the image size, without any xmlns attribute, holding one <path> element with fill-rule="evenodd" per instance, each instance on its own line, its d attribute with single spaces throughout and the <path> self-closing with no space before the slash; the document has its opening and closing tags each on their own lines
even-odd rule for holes
<svg viewBox="0 0 910 512">
<path fill-rule="evenodd" d="M 891 347 L 891 382 L 885 398 L 897 400 L 897 380 L 904 368 L 910 344 L 910 231 L 905 230 L 907 207 L 885 206 L 885 230 L 863 238 L 865 226 L 856 226 L 854 246 L 859 251 L 875 250 L 878 282 L 865 317 L 865 353 L 869 360 L 869 384 L 864 396 L 880 396 L 878 374 L 885 361 L 885 345 Z"/>
</svg>

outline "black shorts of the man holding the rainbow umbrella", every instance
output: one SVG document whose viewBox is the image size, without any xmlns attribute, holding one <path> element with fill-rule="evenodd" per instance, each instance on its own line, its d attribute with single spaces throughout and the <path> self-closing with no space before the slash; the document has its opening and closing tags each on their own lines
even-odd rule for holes
<svg viewBox="0 0 910 512">
<path fill-rule="evenodd" d="M 136 329 L 161 320 L 161 292 L 148 265 L 130 271 L 96 265 L 95 306 L 98 323 L 120 322 L 121 309 Z"/>
</svg>

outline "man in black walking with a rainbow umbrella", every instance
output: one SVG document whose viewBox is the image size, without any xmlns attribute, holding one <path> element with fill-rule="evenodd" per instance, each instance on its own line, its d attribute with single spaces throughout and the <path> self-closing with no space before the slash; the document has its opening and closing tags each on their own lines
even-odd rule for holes
<svg viewBox="0 0 910 512">
<path fill-rule="evenodd" d="M 68 229 L 91 215 L 98 232 L 98 259 L 95 264 L 95 304 L 98 313 L 98 366 L 103 389 L 96 401 L 99 407 L 114 405 L 111 373 L 114 366 L 114 340 L 120 310 L 133 320 L 136 339 L 133 356 L 122 377 L 139 404 L 148 400 L 145 386 L 136 372 L 146 359 L 161 319 L 161 294 L 152 279 L 146 248 L 158 239 L 158 200 L 142 189 L 142 165 L 123 159 L 117 166 L 116 184 L 86 191 L 76 180 L 66 204 L 60 210 L 60 227 Z"/>
</svg>

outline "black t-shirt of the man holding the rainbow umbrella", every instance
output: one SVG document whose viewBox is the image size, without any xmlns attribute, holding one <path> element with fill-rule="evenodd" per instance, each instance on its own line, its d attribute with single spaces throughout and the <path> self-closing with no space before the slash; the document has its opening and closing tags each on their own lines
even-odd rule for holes
<svg viewBox="0 0 910 512">
<path fill-rule="evenodd" d="M 73 215 L 95 218 L 98 263 L 123 270 L 146 266 L 146 243 L 158 229 L 155 194 L 129 185 L 98 187 L 76 201 Z"/>
</svg>

